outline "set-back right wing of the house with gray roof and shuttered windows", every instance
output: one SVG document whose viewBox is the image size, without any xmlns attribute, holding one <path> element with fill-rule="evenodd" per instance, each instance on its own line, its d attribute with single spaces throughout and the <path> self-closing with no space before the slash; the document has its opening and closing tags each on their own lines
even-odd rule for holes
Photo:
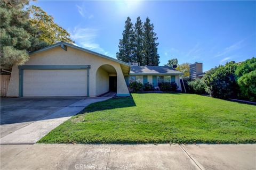
<svg viewBox="0 0 256 170">
<path fill-rule="evenodd" d="M 133 81 L 142 84 L 149 82 L 155 88 L 158 88 L 159 83 L 162 82 L 176 82 L 179 87 L 178 90 L 181 90 L 180 75 L 182 74 L 182 72 L 169 66 L 131 66 L 130 74 L 125 76 L 125 81 L 127 85 Z"/>
</svg>

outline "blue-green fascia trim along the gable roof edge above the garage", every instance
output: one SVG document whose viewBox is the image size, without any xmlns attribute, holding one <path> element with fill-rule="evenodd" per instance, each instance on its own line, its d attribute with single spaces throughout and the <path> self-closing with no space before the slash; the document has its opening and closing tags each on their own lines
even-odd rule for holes
<svg viewBox="0 0 256 170">
<path fill-rule="evenodd" d="M 46 50 L 49 50 L 49 49 L 52 49 L 52 48 L 55 48 L 55 47 L 58 47 L 58 46 L 61 46 L 61 48 L 63 48 L 64 50 L 67 50 L 67 47 L 71 47 L 71 48 L 75 48 L 75 49 L 79 49 L 79 50 L 82 50 L 83 52 L 87 52 L 87 53 L 90 53 L 90 54 L 94 54 L 94 55 L 97 55 L 97 56 L 100 56 L 102 58 L 106 58 L 108 60 L 111 60 L 111 61 L 114 61 L 114 62 L 117 62 L 119 64 L 123 64 L 125 66 L 131 66 L 129 63 L 125 63 L 125 62 L 122 62 L 122 61 L 119 61 L 115 58 L 112 58 L 112 57 L 109 57 L 109 56 L 106 56 L 106 55 L 103 55 L 103 54 L 100 54 L 100 53 L 96 53 L 96 52 L 93 52 L 89 49 L 85 49 L 85 48 L 82 48 L 82 47 L 78 47 L 78 46 L 75 46 L 73 44 L 69 44 L 69 43 L 66 43 L 66 42 L 59 42 L 59 43 L 56 43 L 56 44 L 53 44 L 51 46 L 47 46 L 47 47 L 44 47 L 44 48 L 41 48 L 41 49 L 38 49 L 34 52 L 30 52 L 29 55 L 32 55 L 32 54 L 36 54 L 36 53 L 39 53 L 39 52 L 44 52 Z"/>
</svg>

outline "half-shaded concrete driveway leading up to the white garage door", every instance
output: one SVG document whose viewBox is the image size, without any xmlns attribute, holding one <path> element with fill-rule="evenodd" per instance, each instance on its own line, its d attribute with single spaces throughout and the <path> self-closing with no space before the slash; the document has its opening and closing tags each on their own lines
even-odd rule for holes
<svg viewBox="0 0 256 170">
<path fill-rule="evenodd" d="M 109 98 L 1 98 L 1 144 L 35 143 L 84 107 Z"/>
</svg>

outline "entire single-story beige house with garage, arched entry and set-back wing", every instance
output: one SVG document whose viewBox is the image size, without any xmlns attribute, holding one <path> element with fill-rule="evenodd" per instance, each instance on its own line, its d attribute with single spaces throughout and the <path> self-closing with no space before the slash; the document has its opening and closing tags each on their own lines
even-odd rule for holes
<svg viewBox="0 0 256 170">
<path fill-rule="evenodd" d="M 87 96 L 108 91 L 130 96 L 130 81 L 174 81 L 180 87 L 182 73 L 166 66 L 131 66 L 115 58 L 60 42 L 29 53 L 24 65 L 14 65 L 7 96 Z"/>
</svg>

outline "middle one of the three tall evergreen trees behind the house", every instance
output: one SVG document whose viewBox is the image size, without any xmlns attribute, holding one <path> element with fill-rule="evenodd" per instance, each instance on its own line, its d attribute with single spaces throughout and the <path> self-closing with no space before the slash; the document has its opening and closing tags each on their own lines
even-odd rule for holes
<svg viewBox="0 0 256 170">
<path fill-rule="evenodd" d="M 140 16 L 134 24 L 134 55 L 136 62 L 142 64 L 143 61 L 143 23 Z"/>
</svg>

